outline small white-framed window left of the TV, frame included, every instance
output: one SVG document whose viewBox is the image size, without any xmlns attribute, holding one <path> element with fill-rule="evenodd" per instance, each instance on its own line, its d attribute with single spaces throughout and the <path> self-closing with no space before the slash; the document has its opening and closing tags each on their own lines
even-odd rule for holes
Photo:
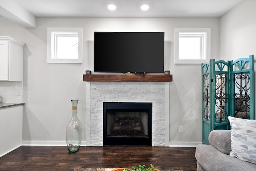
<svg viewBox="0 0 256 171">
<path fill-rule="evenodd" d="M 48 28 L 47 63 L 82 63 L 82 33 L 82 28 Z"/>
</svg>

